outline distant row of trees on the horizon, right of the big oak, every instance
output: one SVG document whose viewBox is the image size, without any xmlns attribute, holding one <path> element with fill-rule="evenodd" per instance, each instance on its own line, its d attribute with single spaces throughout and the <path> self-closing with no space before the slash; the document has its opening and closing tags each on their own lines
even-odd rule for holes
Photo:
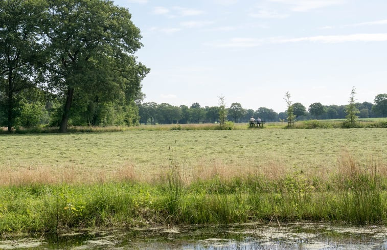
<svg viewBox="0 0 387 250">
<path fill-rule="evenodd" d="M 387 94 L 375 97 L 375 104 L 370 102 L 355 103 L 359 110 L 359 118 L 387 117 Z M 297 120 L 310 119 L 345 119 L 347 105 L 322 105 L 312 103 L 306 108 L 297 102 L 292 104 L 293 114 Z M 139 104 L 140 122 L 143 124 L 172 124 L 172 123 L 214 123 L 219 120 L 218 106 L 201 107 L 199 103 L 173 106 L 168 103 L 157 104 L 146 102 Z M 271 108 L 260 107 L 257 110 L 243 108 L 234 102 L 227 108 L 227 120 L 233 122 L 248 122 L 251 118 L 261 118 L 267 122 L 286 121 L 287 111 L 277 113 Z"/>
</svg>

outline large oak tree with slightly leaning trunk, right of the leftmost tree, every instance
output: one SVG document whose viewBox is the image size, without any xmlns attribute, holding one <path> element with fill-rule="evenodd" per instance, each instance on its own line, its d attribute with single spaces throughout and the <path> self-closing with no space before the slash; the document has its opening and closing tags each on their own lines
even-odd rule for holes
<svg viewBox="0 0 387 250">
<path fill-rule="evenodd" d="M 50 41 L 49 87 L 62 95 L 65 132 L 76 95 L 130 102 L 148 73 L 136 61 L 140 30 L 127 9 L 107 0 L 51 0 L 45 35 Z"/>
</svg>

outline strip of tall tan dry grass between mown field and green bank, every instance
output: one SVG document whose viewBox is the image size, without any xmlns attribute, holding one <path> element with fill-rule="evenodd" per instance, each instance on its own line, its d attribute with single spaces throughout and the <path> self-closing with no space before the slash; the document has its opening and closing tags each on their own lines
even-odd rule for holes
<svg viewBox="0 0 387 250">
<path fill-rule="evenodd" d="M 370 176 L 378 175 L 387 178 L 387 164 L 378 157 L 370 156 L 366 164 L 360 164 L 348 152 L 343 152 L 337 159 L 335 168 L 324 166 L 299 169 L 287 166 L 283 160 L 267 156 L 259 164 L 248 163 L 224 163 L 221 160 L 211 162 L 202 160 L 193 166 L 187 163 L 170 161 L 162 167 L 156 167 L 154 171 L 144 172 L 140 167 L 127 162 L 124 165 L 110 168 L 79 168 L 75 166 L 17 166 L 3 167 L 0 175 L 0 186 L 26 186 L 31 184 L 83 184 L 83 183 L 108 183 L 110 181 L 136 181 L 152 184 L 160 179 L 165 179 L 168 170 L 173 166 L 178 169 L 184 185 L 190 185 L 195 181 L 206 181 L 218 178 L 221 181 L 239 179 L 262 178 L 271 182 L 283 180 L 294 172 L 301 172 L 306 179 L 317 179 L 320 183 L 328 183 L 332 179 L 351 178 L 361 174 Z M 333 178 L 336 176 L 335 178 Z"/>
</svg>

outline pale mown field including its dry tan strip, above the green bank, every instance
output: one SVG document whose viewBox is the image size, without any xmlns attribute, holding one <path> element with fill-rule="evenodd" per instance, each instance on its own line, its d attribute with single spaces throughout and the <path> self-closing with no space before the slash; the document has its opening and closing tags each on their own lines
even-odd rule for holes
<svg viewBox="0 0 387 250">
<path fill-rule="evenodd" d="M 214 172 L 330 173 L 343 154 L 364 166 L 371 158 L 387 163 L 387 132 L 378 128 L 13 134 L 0 141 L 3 186 L 122 175 L 152 180 L 171 164 L 189 179 Z"/>
</svg>

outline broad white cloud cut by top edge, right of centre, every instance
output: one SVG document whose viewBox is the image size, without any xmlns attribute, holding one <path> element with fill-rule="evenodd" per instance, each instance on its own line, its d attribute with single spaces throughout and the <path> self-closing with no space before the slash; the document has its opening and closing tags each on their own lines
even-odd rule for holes
<svg viewBox="0 0 387 250">
<path fill-rule="evenodd" d="M 346 0 L 269 0 L 270 2 L 290 5 L 292 11 L 306 12 L 313 9 L 344 4 Z"/>
</svg>

